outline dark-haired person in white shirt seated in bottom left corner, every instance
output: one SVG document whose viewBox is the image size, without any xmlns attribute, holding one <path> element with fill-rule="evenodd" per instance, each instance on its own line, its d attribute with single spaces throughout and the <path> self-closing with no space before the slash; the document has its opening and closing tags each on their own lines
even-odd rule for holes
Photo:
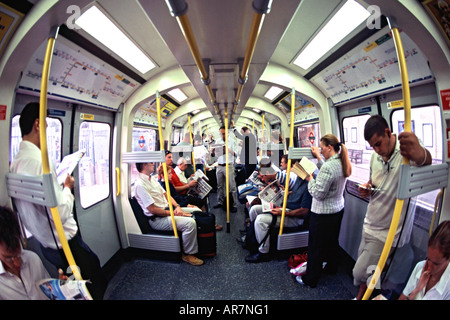
<svg viewBox="0 0 450 320">
<path fill-rule="evenodd" d="M 0 300 L 46 300 L 36 282 L 47 278 L 39 256 L 22 250 L 17 217 L 0 207 Z"/>
</svg>

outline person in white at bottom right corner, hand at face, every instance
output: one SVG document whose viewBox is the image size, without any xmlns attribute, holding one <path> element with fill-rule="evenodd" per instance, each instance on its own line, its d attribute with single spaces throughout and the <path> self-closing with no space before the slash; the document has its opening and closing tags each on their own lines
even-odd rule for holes
<svg viewBox="0 0 450 320">
<path fill-rule="evenodd" d="M 450 221 L 428 240 L 427 259 L 417 263 L 399 300 L 450 300 Z"/>
</svg>

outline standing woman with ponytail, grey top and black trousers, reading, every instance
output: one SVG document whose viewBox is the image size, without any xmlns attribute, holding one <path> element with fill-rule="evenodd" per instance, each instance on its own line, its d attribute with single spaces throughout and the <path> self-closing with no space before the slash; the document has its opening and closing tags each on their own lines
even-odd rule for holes
<svg viewBox="0 0 450 320">
<path fill-rule="evenodd" d="M 322 263 L 325 272 L 336 273 L 338 264 L 339 230 L 344 214 L 344 187 L 352 173 L 348 151 L 336 136 L 327 134 L 320 139 L 324 163 L 317 147 L 311 147 L 319 160 L 316 179 L 309 175 L 308 191 L 313 197 L 309 222 L 308 263 L 306 274 L 297 281 L 312 288 L 317 285 Z M 341 150 L 339 153 L 339 149 Z"/>
</svg>

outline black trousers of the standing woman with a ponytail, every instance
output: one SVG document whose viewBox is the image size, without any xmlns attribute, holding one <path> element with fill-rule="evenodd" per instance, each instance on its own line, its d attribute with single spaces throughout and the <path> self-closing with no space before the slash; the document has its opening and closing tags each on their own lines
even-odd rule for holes
<svg viewBox="0 0 450 320">
<path fill-rule="evenodd" d="M 339 231 L 344 209 L 332 214 L 311 212 L 308 237 L 308 263 L 302 280 L 315 287 L 322 273 L 322 264 L 326 262 L 325 272 L 336 273 L 339 252 Z"/>
</svg>

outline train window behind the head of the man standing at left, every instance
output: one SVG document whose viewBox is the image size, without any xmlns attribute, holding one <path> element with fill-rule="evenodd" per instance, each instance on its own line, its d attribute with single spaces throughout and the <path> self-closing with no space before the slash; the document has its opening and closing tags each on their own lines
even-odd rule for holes
<svg viewBox="0 0 450 320">
<path fill-rule="evenodd" d="M 19 127 L 20 115 L 13 117 L 11 123 L 11 150 L 9 160 L 12 162 L 22 141 Z M 47 147 L 50 160 L 57 166 L 61 162 L 62 123 L 56 118 L 46 118 L 47 121 Z"/>
</svg>

